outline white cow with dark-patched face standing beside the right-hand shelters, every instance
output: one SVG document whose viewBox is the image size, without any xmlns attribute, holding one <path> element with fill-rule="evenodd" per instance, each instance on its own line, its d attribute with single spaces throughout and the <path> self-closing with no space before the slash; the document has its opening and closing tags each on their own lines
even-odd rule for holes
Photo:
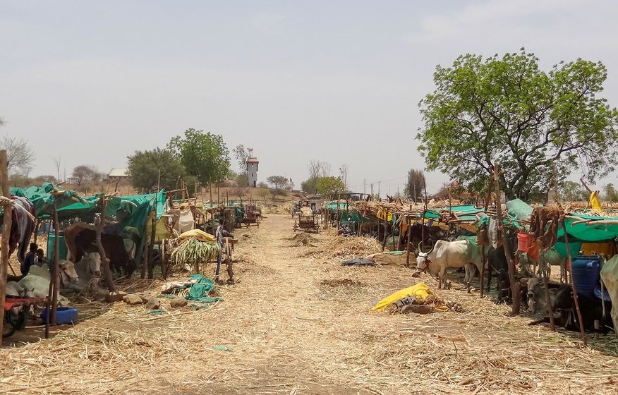
<svg viewBox="0 0 618 395">
<path fill-rule="evenodd" d="M 434 275 L 438 274 L 438 277 L 440 277 L 438 288 L 442 288 L 442 285 L 447 285 L 446 271 L 448 267 L 464 267 L 466 271 L 464 281 L 468 284 L 474 273 L 473 265 L 476 265 L 482 259 L 478 249 L 471 247 L 471 242 L 468 240 L 439 240 L 430 252 L 418 253 L 415 275 L 418 276 L 420 272 L 425 270 Z"/>
</svg>

